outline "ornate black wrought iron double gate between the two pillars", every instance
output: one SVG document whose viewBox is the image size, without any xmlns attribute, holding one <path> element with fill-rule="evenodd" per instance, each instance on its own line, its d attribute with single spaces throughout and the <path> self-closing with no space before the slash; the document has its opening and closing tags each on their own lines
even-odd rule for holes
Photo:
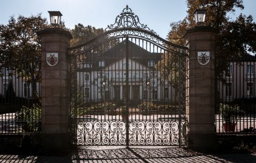
<svg viewBox="0 0 256 163">
<path fill-rule="evenodd" d="M 103 34 L 70 48 L 72 143 L 184 146 L 186 49 L 128 6 Z"/>
</svg>

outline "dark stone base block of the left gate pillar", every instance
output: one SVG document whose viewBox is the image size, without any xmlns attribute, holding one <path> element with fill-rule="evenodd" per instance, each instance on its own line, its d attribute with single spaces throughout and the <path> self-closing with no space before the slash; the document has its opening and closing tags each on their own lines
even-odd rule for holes
<svg viewBox="0 0 256 163">
<path fill-rule="evenodd" d="M 70 151 L 70 134 L 42 134 L 42 146 L 53 151 Z"/>
</svg>

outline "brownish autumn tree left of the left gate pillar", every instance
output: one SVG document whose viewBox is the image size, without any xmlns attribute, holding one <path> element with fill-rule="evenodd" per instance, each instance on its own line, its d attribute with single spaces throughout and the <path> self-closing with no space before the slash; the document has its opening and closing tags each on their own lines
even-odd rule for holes
<svg viewBox="0 0 256 163">
<path fill-rule="evenodd" d="M 41 44 L 36 32 L 47 27 L 41 14 L 30 17 L 10 17 L 7 25 L 0 26 L 0 61 L 32 85 L 32 97 L 36 98 L 36 83 L 41 78 Z"/>
</svg>

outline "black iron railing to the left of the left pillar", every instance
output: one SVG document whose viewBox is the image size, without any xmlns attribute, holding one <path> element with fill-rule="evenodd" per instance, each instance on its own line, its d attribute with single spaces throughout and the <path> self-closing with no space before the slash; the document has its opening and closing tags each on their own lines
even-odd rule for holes
<svg viewBox="0 0 256 163">
<path fill-rule="evenodd" d="M 41 132 L 40 83 L 26 64 L 0 62 L 0 135 Z"/>
</svg>

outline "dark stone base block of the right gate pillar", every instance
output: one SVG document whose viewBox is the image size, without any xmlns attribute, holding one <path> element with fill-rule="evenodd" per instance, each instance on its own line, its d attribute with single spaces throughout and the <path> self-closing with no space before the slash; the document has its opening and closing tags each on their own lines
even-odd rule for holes
<svg viewBox="0 0 256 163">
<path fill-rule="evenodd" d="M 196 151 L 215 151 L 217 148 L 216 134 L 194 134 L 187 135 L 187 147 Z"/>
</svg>

